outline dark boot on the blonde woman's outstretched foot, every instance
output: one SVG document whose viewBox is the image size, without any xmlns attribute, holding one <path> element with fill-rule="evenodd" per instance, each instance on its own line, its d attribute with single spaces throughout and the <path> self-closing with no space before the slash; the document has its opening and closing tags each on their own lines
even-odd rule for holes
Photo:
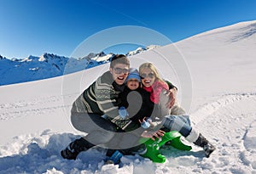
<svg viewBox="0 0 256 174">
<path fill-rule="evenodd" d="M 216 149 L 212 143 L 209 143 L 207 138 L 204 138 L 201 133 L 199 134 L 199 137 L 194 142 L 195 145 L 200 146 L 202 149 L 204 149 L 206 157 L 209 158 L 209 156 L 212 154 L 212 152 Z"/>
</svg>

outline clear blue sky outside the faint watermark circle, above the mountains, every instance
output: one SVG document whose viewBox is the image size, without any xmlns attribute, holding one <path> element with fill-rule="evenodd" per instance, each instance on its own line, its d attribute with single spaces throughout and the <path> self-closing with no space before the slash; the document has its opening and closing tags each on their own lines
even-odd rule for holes
<svg viewBox="0 0 256 174">
<path fill-rule="evenodd" d="M 121 25 L 177 42 L 247 20 L 256 20 L 256 0 L 0 0 L 0 54 L 69 56 L 88 36 Z"/>
</svg>

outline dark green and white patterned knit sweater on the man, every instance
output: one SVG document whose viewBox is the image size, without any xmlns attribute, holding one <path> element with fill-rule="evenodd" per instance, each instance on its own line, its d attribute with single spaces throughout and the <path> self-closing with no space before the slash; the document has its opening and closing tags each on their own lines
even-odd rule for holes
<svg viewBox="0 0 256 174">
<path fill-rule="evenodd" d="M 123 92 L 125 84 L 119 86 L 113 81 L 112 74 L 107 71 L 84 90 L 73 102 L 71 114 L 94 113 L 108 115 L 108 120 L 123 128 L 130 119 L 124 120 L 119 116 L 119 93 Z"/>
</svg>

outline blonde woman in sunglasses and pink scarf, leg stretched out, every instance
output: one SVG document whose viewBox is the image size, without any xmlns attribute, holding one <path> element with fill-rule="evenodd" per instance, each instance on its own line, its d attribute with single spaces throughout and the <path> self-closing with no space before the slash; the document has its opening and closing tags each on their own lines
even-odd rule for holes
<svg viewBox="0 0 256 174">
<path fill-rule="evenodd" d="M 206 156 L 209 157 L 215 147 L 201 133 L 196 132 L 195 128 L 191 127 L 189 116 L 185 115 L 185 111 L 177 104 L 172 109 L 166 109 L 167 85 L 160 78 L 155 66 L 151 63 L 144 63 L 139 67 L 139 73 L 142 77 L 143 89 L 150 93 L 151 101 L 157 104 L 159 109 L 151 116 L 151 129 L 157 130 L 163 126 L 166 132 L 180 132 L 189 142 L 203 148 Z"/>
</svg>

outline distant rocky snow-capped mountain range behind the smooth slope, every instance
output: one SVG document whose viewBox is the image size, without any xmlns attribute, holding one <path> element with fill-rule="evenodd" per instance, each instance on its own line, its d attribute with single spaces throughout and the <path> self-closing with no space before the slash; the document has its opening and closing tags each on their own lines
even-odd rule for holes
<svg viewBox="0 0 256 174">
<path fill-rule="evenodd" d="M 157 47 L 137 48 L 126 55 L 143 53 L 143 51 Z M 42 80 L 89 69 L 108 63 L 113 55 L 114 53 L 89 53 L 79 59 L 67 58 L 53 53 L 44 53 L 40 57 L 30 55 L 25 59 L 6 59 L 0 55 L 0 86 Z"/>
</svg>

